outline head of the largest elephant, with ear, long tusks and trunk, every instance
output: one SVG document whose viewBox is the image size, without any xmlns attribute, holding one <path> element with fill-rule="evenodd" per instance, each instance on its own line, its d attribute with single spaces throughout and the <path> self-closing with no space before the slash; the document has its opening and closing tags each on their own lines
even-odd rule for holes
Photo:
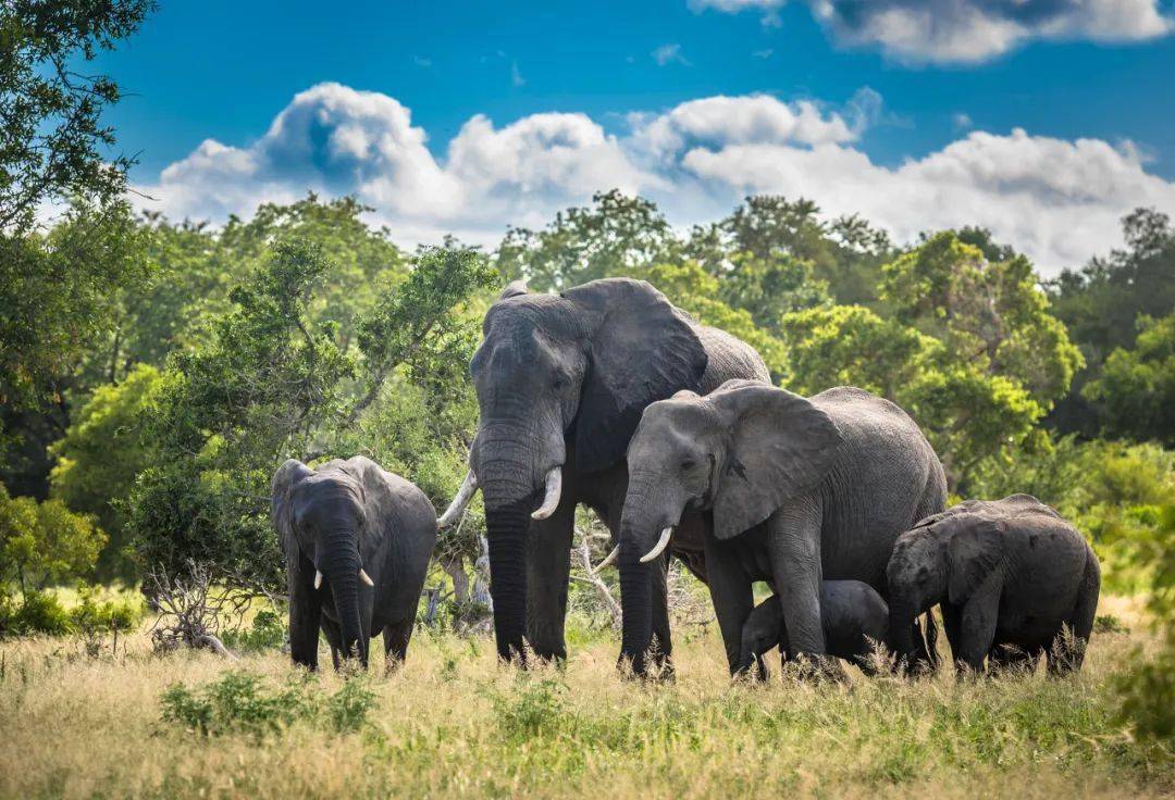
<svg viewBox="0 0 1175 800">
<path fill-rule="evenodd" d="M 481 412 L 470 475 L 441 524 L 482 490 L 498 654 L 509 659 L 522 654 L 529 519 L 559 505 L 566 442 L 577 472 L 619 463 L 644 408 L 699 388 L 707 357 L 683 312 L 627 278 L 559 295 L 512 283 L 483 334 L 470 363 Z"/>
</svg>

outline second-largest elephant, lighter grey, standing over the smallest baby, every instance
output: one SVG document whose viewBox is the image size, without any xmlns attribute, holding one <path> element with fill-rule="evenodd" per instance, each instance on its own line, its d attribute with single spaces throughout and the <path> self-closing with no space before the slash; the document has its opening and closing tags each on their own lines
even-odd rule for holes
<svg viewBox="0 0 1175 800">
<path fill-rule="evenodd" d="M 706 576 L 738 673 L 750 666 L 741 633 L 753 581 L 779 594 L 795 653 L 825 661 L 821 581 L 861 580 L 885 597 L 894 539 L 946 500 L 942 465 L 914 421 L 853 388 L 804 398 L 734 381 L 707 397 L 680 392 L 645 410 L 627 460 L 622 652 L 638 671 L 651 640 L 639 558 L 686 509 L 710 517 Z"/>
</svg>

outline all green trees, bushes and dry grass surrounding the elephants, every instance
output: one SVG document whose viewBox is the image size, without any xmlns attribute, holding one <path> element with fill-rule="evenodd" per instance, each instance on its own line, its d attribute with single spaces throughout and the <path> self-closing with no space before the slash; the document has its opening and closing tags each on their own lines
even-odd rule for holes
<svg viewBox="0 0 1175 800">
<path fill-rule="evenodd" d="M 1167 215 L 1134 211 L 1121 250 L 1045 281 L 982 229 L 893 242 L 776 196 L 680 230 L 602 193 L 491 248 L 408 248 L 348 197 L 220 227 L 136 214 L 129 160 L 99 157 L 119 87 L 70 65 L 149 11 L 0 9 L 0 794 L 1175 792 Z M 294 671 L 274 469 L 363 453 L 443 507 L 497 293 L 611 276 L 750 342 L 781 386 L 893 399 L 953 496 L 1030 492 L 1073 520 L 1104 576 L 1086 671 L 731 685 L 674 570 L 677 681 L 623 681 L 586 512 L 566 667 L 503 668 L 476 504 L 442 532 L 404 670 Z M 194 648 L 208 636 L 227 657 Z"/>
</svg>

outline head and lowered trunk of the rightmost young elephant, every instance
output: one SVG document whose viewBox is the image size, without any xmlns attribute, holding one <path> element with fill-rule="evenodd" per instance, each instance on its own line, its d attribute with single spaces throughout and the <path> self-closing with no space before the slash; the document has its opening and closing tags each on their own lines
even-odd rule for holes
<svg viewBox="0 0 1175 800">
<path fill-rule="evenodd" d="M 968 500 L 927 517 L 894 543 L 886 566 L 889 646 L 912 672 L 938 665 L 933 606 L 965 603 L 1000 562 L 1002 523 L 985 505 Z M 916 624 L 924 612 L 925 641 Z"/>
</svg>

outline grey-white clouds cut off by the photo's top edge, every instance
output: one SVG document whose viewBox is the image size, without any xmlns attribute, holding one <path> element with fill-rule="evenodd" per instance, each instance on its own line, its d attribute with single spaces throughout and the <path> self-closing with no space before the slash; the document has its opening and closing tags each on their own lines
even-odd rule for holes
<svg viewBox="0 0 1175 800">
<path fill-rule="evenodd" d="M 785 0 L 689 0 L 713 8 L 774 14 Z M 1034 39 L 1129 42 L 1175 29 L 1160 0 L 807 0 L 846 45 L 879 47 L 908 62 L 986 61 Z"/>
</svg>

